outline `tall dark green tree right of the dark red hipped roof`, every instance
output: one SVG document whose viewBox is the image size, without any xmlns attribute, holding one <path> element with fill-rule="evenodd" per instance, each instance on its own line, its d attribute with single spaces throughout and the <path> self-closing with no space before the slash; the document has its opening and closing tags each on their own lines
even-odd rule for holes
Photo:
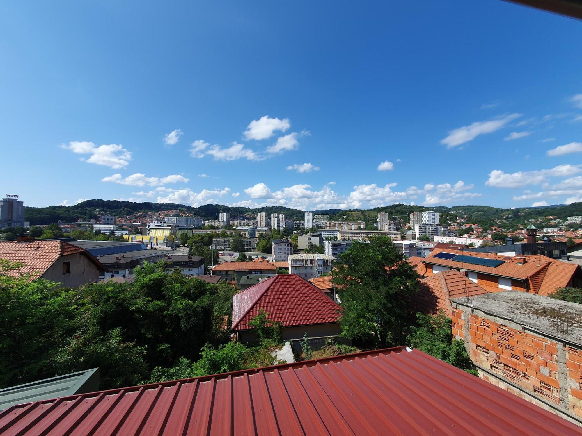
<svg viewBox="0 0 582 436">
<path fill-rule="evenodd" d="M 342 335 L 376 348 L 403 342 L 409 323 L 410 296 L 418 274 L 385 236 L 354 241 L 339 255 L 333 284 L 343 309 Z"/>
</svg>

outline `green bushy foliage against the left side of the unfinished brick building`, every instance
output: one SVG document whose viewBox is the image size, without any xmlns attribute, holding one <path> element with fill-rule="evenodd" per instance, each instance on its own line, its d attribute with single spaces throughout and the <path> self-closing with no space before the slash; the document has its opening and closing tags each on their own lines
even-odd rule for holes
<svg viewBox="0 0 582 436">
<path fill-rule="evenodd" d="M 417 313 L 416 317 L 416 326 L 411 327 L 407 338 L 412 348 L 477 376 L 463 341 L 453 339 L 452 320 L 442 310 L 437 316 Z"/>
</svg>

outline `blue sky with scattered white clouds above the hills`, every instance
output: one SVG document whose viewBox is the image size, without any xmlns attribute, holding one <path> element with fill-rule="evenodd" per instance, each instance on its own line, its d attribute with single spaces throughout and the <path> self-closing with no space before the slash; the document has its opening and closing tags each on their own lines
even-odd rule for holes
<svg viewBox="0 0 582 436">
<path fill-rule="evenodd" d="M 3 2 L 2 194 L 581 201 L 581 22 L 501 0 L 193 3 Z"/>
</svg>

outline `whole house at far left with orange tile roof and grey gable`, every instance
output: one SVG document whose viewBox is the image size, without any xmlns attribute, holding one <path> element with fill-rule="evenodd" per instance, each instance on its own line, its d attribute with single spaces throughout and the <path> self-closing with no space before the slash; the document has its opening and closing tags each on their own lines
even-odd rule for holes
<svg viewBox="0 0 582 436">
<path fill-rule="evenodd" d="M 93 283 L 106 270 L 87 250 L 61 240 L 0 240 L 0 259 L 23 263 L 20 268 L 4 271 L 6 276 L 30 274 L 31 280 L 46 278 L 68 288 Z"/>
</svg>

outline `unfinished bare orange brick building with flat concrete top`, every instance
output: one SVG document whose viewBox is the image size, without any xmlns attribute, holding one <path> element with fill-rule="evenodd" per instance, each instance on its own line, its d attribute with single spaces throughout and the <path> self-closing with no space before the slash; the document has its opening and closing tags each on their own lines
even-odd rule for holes
<svg viewBox="0 0 582 436">
<path fill-rule="evenodd" d="M 582 425 L 580 304 L 506 291 L 452 305 L 453 337 L 483 380 Z"/>
</svg>

